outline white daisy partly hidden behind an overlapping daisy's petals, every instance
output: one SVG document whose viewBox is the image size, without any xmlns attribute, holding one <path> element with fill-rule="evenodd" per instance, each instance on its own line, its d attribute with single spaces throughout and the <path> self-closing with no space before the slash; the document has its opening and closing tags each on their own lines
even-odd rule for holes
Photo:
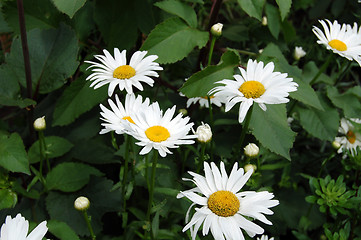
<svg viewBox="0 0 361 240">
<path fill-rule="evenodd" d="M 108 103 L 111 110 L 100 104 L 102 110 L 102 112 L 100 112 L 102 118 L 100 119 L 104 121 L 104 123 L 101 124 L 104 129 L 100 131 L 100 134 L 108 133 L 110 131 L 115 131 L 117 134 L 123 134 L 124 128 L 120 124 L 121 120 L 125 119 L 134 123 L 130 118 L 130 115 L 139 111 L 139 109 L 148 107 L 149 98 L 146 98 L 143 102 L 142 96 L 138 95 L 138 97 L 135 98 L 134 94 L 127 94 L 123 106 L 119 101 L 118 95 L 115 95 L 115 103 L 111 99 L 108 100 Z"/>
</svg>

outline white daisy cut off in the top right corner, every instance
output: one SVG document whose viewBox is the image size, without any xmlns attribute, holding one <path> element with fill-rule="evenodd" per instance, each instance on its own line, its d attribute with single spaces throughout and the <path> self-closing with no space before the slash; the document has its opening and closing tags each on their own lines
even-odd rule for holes
<svg viewBox="0 0 361 240">
<path fill-rule="evenodd" d="M 319 39 L 317 43 L 350 61 L 355 60 L 361 66 L 361 30 L 357 31 L 357 24 L 351 27 L 350 24 L 340 25 L 336 20 L 333 23 L 328 19 L 325 21 L 319 20 L 324 32 L 313 26 L 312 31 Z"/>
</svg>

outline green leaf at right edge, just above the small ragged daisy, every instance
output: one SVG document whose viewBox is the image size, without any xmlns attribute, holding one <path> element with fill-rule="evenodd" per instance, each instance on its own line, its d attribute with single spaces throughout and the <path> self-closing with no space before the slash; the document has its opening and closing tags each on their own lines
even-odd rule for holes
<svg viewBox="0 0 361 240">
<path fill-rule="evenodd" d="M 356 86 L 340 94 L 335 87 L 327 87 L 327 96 L 331 102 L 343 110 L 349 118 L 359 118 L 361 113 L 361 87 Z"/>
</svg>

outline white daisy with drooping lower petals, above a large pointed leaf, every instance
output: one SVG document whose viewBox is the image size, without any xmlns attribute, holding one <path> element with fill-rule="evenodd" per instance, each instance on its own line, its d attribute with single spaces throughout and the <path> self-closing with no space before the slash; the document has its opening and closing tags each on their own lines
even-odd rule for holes
<svg viewBox="0 0 361 240">
<path fill-rule="evenodd" d="M 243 122 L 253 102 L 258 103 L 263 111 L 266 104 L 287 103 L 289 92 L 297 91 L 298 84 L 287 78 L 287 73 L 273 72 L 272 62 L 264 66 L 251 59 L 247 63 L 247 71 L 239 68 L 241 75 L 234 75 L 235 80 L 224 79 L 216 82 L 222 84 L 213 88 L 209 94 L 221 97 L 228 112 L 235 104 L 241 103 L 238 121 Z"/>
</svg>

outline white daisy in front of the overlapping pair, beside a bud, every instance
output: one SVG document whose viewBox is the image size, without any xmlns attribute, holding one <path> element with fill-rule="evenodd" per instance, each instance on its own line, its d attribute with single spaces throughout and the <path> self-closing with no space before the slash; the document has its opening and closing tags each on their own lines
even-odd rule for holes
<svg viewBox="0 0 361 240">
<path fill-rule="evenodd" d="M 160 156 L 165 157 L 167 153 L 172 154 L 168 148 L 194 143 L 191 139 L 197 136 L 187 135 L 193 123 L 189 123 L 189 117 L 183 117 L 181 113 L 173 118 L 175 109 L 176 107 L 173 106 L 163 115 L 159 104 L 155 102 L 130 115 L 134 124 L 124 120 L 121 122 L 124 131 L 139 140 L 136 144 L 143 147 L 140 155 L 147 154 L 154 148 Z"/>
</svg>

